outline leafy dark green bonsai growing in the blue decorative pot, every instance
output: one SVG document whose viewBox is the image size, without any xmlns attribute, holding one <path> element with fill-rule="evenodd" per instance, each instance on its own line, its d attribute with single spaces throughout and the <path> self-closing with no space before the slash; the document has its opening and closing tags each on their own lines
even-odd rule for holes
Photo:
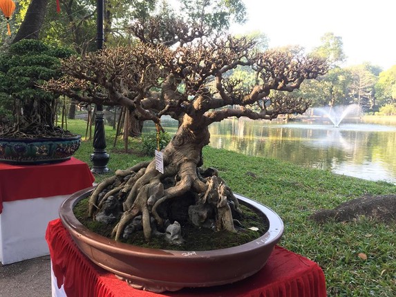
<svg viewBox="0 0 396 297">
<path fill-rule="evenodd" d="M 23 39 L 0 55 L 0 137 L 53 137 L 56 99 L 39 84 L 61 76 L 60 59 L 72 52 Z"/>
</svg>

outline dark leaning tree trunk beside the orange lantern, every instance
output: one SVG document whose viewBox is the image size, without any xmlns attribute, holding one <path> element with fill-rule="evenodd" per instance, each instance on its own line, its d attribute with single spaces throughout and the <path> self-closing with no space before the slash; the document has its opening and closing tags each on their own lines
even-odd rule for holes
<svg viewBox="0 0 396 297">
<path fill-rule="evenodd" d="M 21 27 L 12 40 L 12 43 L 21 39 L 39 39 L 39 32 L 44 23 L 48 0 L 32 0 L 26 12 L 25 19 L 21 23 Z"/>
</svg>

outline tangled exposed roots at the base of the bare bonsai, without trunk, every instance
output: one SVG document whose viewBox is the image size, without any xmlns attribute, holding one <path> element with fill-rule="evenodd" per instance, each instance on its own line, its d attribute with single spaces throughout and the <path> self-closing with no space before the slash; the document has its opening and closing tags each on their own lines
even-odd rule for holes
<svg viewBox="0 0 396 297">
<path fill-rule="evenodd" d="M 233 213 L 240 213 L 238 200 L 216 176 L 216 170 L 202 171 L 195 162 L 183 162 L 177 170 L 174 164 L 167 164 L 164 171 L 158 172 L 154 161 L 116 171 L 115 176 L 104 180 L 91 194 L 90 215 L 103 212 L 104 202 L 116 197 L 123 211 L 112 232 L 115 240 L 123 237 L 125 227 L 138 215 L 142 215 L 144 238 L 149 240 L 153 230 L 165 231 L 165 221 L 167 224 L 176 221 L 169 213 L 173 199 L 192 195 L 192 204 L 187 207 L 193 224 L 235 231 Z M 152 224 L 156 224 L 154 229 Z"/>
</svg>

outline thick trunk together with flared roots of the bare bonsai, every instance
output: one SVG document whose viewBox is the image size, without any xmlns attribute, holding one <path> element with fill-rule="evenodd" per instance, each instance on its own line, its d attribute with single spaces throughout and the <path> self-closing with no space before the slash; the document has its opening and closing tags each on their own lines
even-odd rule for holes
<svg viewBox="0 0 396 297">
<path fill-rule="evenodd" d="M 197 227 L 235 231 L 232 213 L 239 212 L 238 201 L 216 170 L 200 169 L 202 148 L 207 144 L 208 127 L 199 119 L 185 115 L 176 135 L 162 150 L 164 173 L 155 169 L 155 160 L 117 171 L 115 177 L 102 182 L 91 195 L 91 215 L 98 218 L 97 213 L 109 213 L 104 206 L 109 199 L 116 198 L 123 209 L 113 231 L 116 240 L 122 238 L 126 225 L 138 215 L 142 215 L 147 240 L 155 233 L 153 221 L 155 231 L 164 231 L 165 221 L 173 224 L 175 215 L 189 218 Z M 182 208 L 185 215 L 169 212 L 173 202 L 188 204 Z"/>
</svg>

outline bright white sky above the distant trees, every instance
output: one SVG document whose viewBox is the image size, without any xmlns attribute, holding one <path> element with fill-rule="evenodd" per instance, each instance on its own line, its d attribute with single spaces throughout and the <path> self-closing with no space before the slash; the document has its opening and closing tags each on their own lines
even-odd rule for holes
<svg viewBox="0 0 396 297">
<path fill-rule="evenodd" d="M 232 26 L 233 33 L 259 30 L 269 46 L 321 45 L 333 32 L 343 41 L 347 60 L 341 67 L 366 61 L 387 70 L 396 65 L 395 0 L 243 0 L 247 23 Z"/>
</svg>

